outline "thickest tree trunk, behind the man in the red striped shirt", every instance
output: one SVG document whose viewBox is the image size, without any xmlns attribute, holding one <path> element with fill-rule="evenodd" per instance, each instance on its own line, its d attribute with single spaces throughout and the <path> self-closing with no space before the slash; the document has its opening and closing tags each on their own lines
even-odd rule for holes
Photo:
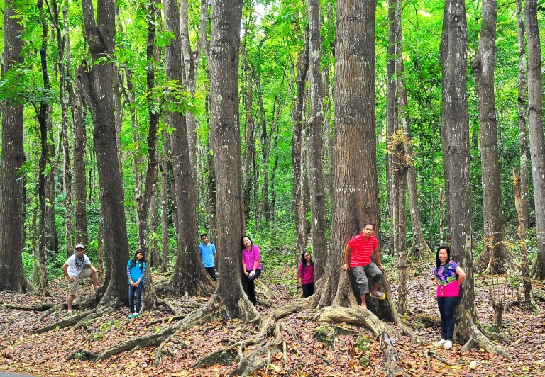
<svg viewBox="0 0 545 377">
<path fill-rule="evenodd" d="M 335 46 L 334 216 L 324 282 L 317 287 L 320 307 L 356 305 L 348 274 L 340 273 L 343 250 L 365 223 L 379 223 L 374 1 L 337 1 Z"/>
</svg>

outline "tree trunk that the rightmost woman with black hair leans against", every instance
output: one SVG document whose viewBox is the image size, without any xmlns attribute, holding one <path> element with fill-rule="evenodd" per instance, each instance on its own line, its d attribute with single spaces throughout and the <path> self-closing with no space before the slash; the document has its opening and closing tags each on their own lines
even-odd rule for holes
<svg viewBox="0 0 545 377">
<path fill-rule="evenodd" d="M 473 295 L 473 254 L 471 235 L 472 203 L 469 170 L 469 116 L 466 94 L 468 29 L 466 7 L 462 0 L 447 0 L 441 38 L 443 72 L 443 161 L 447 203 L 450 203 L 449 231 L 451 259 L 458 261 L 467 278 L 463 283 L 456 310 L 455 337 L 468 342 L 470 324 L 477 322 Z"/>
</svg>

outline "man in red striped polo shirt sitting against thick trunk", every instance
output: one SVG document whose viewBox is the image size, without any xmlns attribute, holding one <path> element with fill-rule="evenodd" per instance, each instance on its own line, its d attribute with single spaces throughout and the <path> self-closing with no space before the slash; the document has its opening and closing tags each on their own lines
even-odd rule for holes
<svg viewBox="0 0 545 377">
<path fill-rule="evenodd" d="M 375 232 L 375 224 L 367 223 L 360 235 L 352 237 L 344 249 L 345 264 L 341 271 L 352 269 L 358 289 L 361 295 L 361 307 L 367 309 L 365 303 L 365 295 L 369 293 L 370 282 L 373 282 L 371 289 L 371 297 L 384 300 L 385 293 L 378 291 L 380 283 L 382 283 L 382 273 L 384 266 L 380 261 L 380 252 L 378 251 L 378 240 L 373 235 Z M 371 254 L 375 257 L 378 266 L 371 261 Z"/>
</svg>

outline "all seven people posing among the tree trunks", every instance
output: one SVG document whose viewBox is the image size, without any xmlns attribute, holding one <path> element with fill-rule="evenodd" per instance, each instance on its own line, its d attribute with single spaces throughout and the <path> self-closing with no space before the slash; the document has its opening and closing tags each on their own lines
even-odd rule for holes
<svg viewBox="0 0 545 377">
<path fill-rule="evenodd" d="M 367 294 L 371 298 L 384 300 L 386 295 L 378 288 L 382 283 L 382 274 L 385 272 L 380 259 L 378 240 L 374 235 L 375 224 L 366 223 L 361 234 L 351 238 L 344 249 L 345 264 L 341 271 L 346 273 L 352 270 L 361 298 L 361 307 L 367 309 Z M 200 235 L 199 253 L 204 268 L 211 278 L 216 281 L 216 247 L 209 242 L 208 235 Z M 76 245 L 76 252 L 67 259 L 62 270 L 68 280 L 68 312 L 72 312 L 72 303 L 79 288 L 79 282 L 86 277 L 91 278 L 94 290 L 97 286 L 97 269 L 94 268 L 89 257 L 84 254 L 82 244 Z M 371 256 L 375 258 L 373 262 Z M 314 294 L 314 261 L 309 252 L 302 254 L 302 261 L 298 269 L 298 288 L 301 287 L 305 298 Z M 258 300 L 255 296 L 255 279 L 261 274 L 260 249 L 247 235 L 241 239 L 242 271 L 246 276 L 246 294 L 255 307 Z M 441 340 L 438 346 L 450 349 L 454 340 L 455 317 L 454 310 L 458 303 L 460 286 L 466 278 L 466 273 L 451 260 L 451 249 L 448 246 L 440 246 L 436 252 L 436 267 L 434 277 L 437 284 L 437 305 L 441 315 Z M 142 303 L 142 292 L 145 280 L 145 251 L 136 250 L 134 257 L 127 262 L 128 300 L 130 313 L 128 318 L 138 317 Z M 135 308 L 136 299 L 136 308 Z"/>
</svg>

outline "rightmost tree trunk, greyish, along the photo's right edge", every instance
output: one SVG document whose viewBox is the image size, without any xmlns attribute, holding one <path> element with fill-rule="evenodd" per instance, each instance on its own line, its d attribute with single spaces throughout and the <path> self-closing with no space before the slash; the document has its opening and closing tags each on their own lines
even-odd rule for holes
<svg viewBox="0 0 545 377">
<path fill-rule="evenodd" d="M 543 135 L 543 77 L 541 72 L 541 43 L 537 23 L 537 1 L 524 2 L 526 35 L 528 43 L 528 128 L 532 179 L 534 181 L 534 206 L 536 208 L 537 259 L 534 276 L 545 278 L 545 142 Z"/>
</svg>

